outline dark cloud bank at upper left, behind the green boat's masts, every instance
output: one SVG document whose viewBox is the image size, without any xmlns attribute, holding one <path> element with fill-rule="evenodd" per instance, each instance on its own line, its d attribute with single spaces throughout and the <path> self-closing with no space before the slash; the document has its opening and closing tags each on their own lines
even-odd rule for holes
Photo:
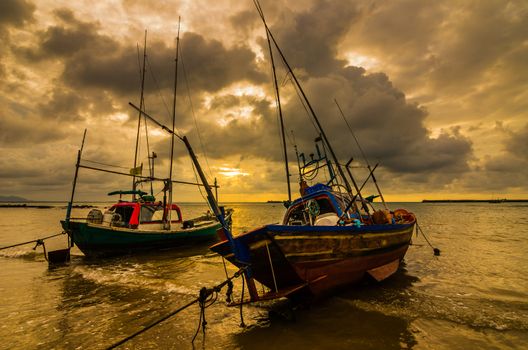
<svg viewBox="0 0 528 350">
<path fill-rule="evenodd" d="M 56 11 L 55 15 L 60 23 L 39 33 L 39 47 L 20 49 L 21 53 L 29 59 L 62 59 L 62 79 L 77 89 L 104 89 L 119 95 L 139 90 L 136 47 L 101 34 L 98 23 L 82 22 L 69 10 Z M 151 85 L 155 89 L 171 88 L 175 48 L 160 41 L 148 42 L 147 46 L 147 78 L 152 80 L 154 75 Z M 220 41 L 187 32 L 181 39 L 181 51 L 194 89 L 215 91 L 236 81 L 264 79 L 255 66 L 255 54 L 247 47 L 228 48 Z"/>
</svg>

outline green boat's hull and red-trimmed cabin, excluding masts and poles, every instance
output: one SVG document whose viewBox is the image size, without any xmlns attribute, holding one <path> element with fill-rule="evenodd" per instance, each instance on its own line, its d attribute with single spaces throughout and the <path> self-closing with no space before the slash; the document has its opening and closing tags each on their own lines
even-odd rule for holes
<svg viewBox="0 0 528 350">
<path fill-rule="evenodd" d="M 133 191 L 118 192 L 134 194 Z M 196 247 L 216 240 L 221 224 L 212 214 L 184 220 L 178 205 L 163 206 L 145 192 L 135 194 L 136 200 L 120 200 L 104 213 L 92 209 L 86 218 L 61 221 L 62 226 L 86 256 Z M 226 220 L 230 220 L 231 214 L 232 210 L 227 210 Z"/>
</svg>

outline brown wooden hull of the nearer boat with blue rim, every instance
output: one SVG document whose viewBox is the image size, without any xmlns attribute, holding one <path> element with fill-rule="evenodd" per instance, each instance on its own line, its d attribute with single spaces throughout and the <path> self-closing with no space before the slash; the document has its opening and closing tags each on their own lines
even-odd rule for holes
<svg viewBox="0 0 528 350">
<path fill-rule="evenodd" d="M 413 230 L 414 223 L 360 228 L 267 225 L 235 241 L 249 253 L 249 277 L 271 294 L 318 297 L 356 283 L 366 274 L 377 280 L 390 276 L 405 256 Z M 228 242 L 211 249 L 243 266 Z M 291 290 L 295 292 L 284 292 Z"/>
</svg>

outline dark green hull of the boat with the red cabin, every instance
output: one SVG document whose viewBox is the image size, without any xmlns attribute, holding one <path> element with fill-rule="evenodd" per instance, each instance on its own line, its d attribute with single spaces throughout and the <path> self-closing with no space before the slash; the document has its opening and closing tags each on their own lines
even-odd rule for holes
<svg viewBox="0 0 528 350">
<path fill-rule="evenodd" d="M 64 229 L 65 222 L 61 222 Z M 86 256 L 127 254 L 151 249 L 211 243 L 217 237 L 219 223 L 172 232 L 138 231 L 70 221 L 73 242 Z"/>
</svg>

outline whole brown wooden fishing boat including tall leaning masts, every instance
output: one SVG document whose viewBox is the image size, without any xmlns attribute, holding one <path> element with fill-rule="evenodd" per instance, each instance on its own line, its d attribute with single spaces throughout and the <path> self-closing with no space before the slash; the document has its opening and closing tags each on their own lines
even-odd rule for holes
<svg viewBox="0 0 528 350">
<path fill-rule="evenodd" d="M 268 38 L 289 200 L 285 202 L 287 210 L 281 223 L 225 236 L 211 250 L 244 269 L 250 302 L 282 297 L 318 298 L 367 275 L 382 281 L 394 274 L 403 260 L 416 217 L 405 209 L 388 209 L 374 176 L 377 165 L 371 167 L 367 163 L 369 174 L 359 186 L 352 176 L 352 159 L 346 165 L 339 162 L 318 116 L 268 28 L 258 1 L 254 3 Z M 320 133 L 315 139 L 316 152 L 310 154 L 309 161 L 303 153 L 298 154 L 295 146 L 300 197 L 293 201 L 272 43 Z M 324 182 L 321 176 L 316 176 L 321 169 L 327 175 Z M 362 190 L 368 181 L 374 182 L 379 193 L 365 198 Z M 375 210 L 371 204 L 377 196 L 382 199 L 383 209 Z"/>
</svg>

